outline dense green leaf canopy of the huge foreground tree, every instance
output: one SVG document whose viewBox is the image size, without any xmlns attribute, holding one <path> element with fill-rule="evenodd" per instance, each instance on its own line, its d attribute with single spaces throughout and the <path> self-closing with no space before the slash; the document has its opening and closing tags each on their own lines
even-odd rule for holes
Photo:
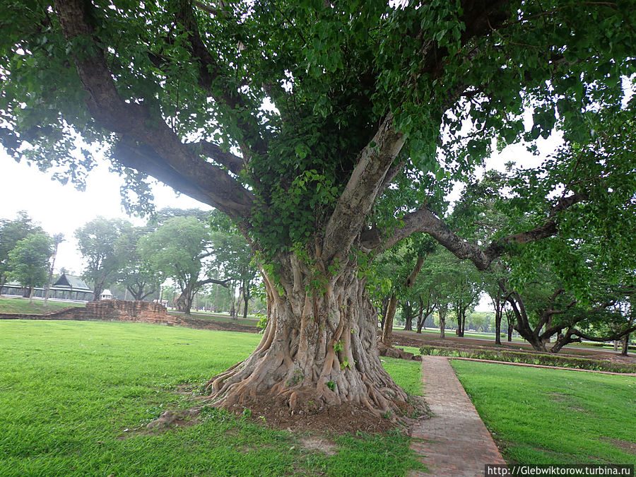
<svg viewBox="0 0 636 477">
<path fill-rule="evenodd" d="M 79 184 L 93 158 L 86 148 L 68 154 L 77 148 L 75 135 L 110 145 L 148 206 L 143 175 L 162 174 L 149 166 L 126 169 L 110 130 L 136 134 L 155 154 L 164 151 L 143 133 L 112 124 L 104 105 L 89 101 L 87 108 L 88 93 L 68 64 L 69 54 L 76 61 L 102 55 L 119 98 L 143 103 L 146 120 L 179 138 L 198 136 L 195 151 L 204 141 L 223 153 L 242 148 L 243 167 L 228 167 L 254 194 L 258 206 L 247 222 L 269 257 L 309 242 L 326 225 L 360 151 L 379 147 L 370 138 L 387 112 L 404 136 L 396 158 L 404 167 L 371 223 L 395 226 L 401 213 L 424 204 L 443 214 L 450 179 L 470 180 L 493 147 L 524 140 L 532 148 L 560 129 L 566 146 L 559 165 L 519 172 L 513 184 L 511 206 L 539 222 L 550 190 L 575 184 L 560 171 L 602 177 L 594 167 L 577 167 L 574 144 L 596 140 L 594 115 L 620 110 L 623 78 L 635 71 L 632 9 L 614 4 L 505 1 L 489 11 L 487 28 L 478 7 L 461 1 L 186 7 L 98 3 L 90 10 L 90 35 L 69 37 L 53 6 L 7 4 L 0 11 L 2 143 L 16 158 L 60 166 L 56 177 Z M 193 45 L 206 50 L 198 61 Z M 630 117 L 623 116 L 620 124 Z M 139 121 L 134 114 L 126 119 Z M 223 163 L 220 156 L 211 160 Z M 617 161 L 624 166 L 625 159 Z M 541 173 L 550 175 L 549 187 L 536 184 Z M 591 199 L 598 211 L 611 209 Z"/>
</svg>

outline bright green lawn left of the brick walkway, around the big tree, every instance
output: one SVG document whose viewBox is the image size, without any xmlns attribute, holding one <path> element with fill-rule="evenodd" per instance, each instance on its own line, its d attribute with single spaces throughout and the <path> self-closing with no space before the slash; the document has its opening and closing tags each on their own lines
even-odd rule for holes
<svg viewBox="0 0 636 477">
<path fill-rule="evenodd" d="M 115 322 L 0 322 L 1 476 L 404 475 L 421 464 L 399 432 L 330 436 L 334 454 L 302 436 L 223 411 L 157 435 L 141 432 L 177 394 L 245 358 L 256 334 Z M 407 390 L 420 363 L 385 359 Z"/>
</svg>

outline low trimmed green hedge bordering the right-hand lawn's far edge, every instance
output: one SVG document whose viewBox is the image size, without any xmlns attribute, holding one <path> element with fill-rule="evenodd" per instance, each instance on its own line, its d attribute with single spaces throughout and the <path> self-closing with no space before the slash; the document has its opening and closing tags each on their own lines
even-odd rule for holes
<svg viewBox="0 0 636 477">
<path fill-rule="evenodd" d="M 449 356 L 455 358 L 473 358 L 478 360 L 505 361 L 506 363 L 526 363 L 529 365 L 571 367 L 578 370 L 636 372 L 636 365 L 612 363 L 606 360 L 572 358 L 570 356 L 539 353 L 519 353 L 517 351 L 459 350 L 439 346 L 422 346 L 422 355 Z"/>
</svg>

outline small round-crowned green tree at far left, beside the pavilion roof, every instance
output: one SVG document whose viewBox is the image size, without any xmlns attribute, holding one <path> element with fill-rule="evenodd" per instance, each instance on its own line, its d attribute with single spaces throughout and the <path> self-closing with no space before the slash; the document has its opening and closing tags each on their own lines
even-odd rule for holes
<svg viewBox="0 0 636 477">
<path fill-rule="evenodd" d="M 19 240 L 8 252 L 8 276 L 28 289 L 29 301 L 33 300 L 33 289 L 47 283 L 52 247 L 48 235 L 34 232 Z"/>
</svg>

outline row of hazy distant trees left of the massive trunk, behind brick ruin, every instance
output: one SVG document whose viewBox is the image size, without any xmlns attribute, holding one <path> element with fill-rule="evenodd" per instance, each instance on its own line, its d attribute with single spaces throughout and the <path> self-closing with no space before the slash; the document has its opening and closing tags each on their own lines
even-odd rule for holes
<svg viewBox="0 0 636 477">
<path fill-rule="evenodd" d="M 107 287 L 121 287 L 134 300 L 158 296 L 169 282 L 177 311 L 189 314 L 194 296 L 206 285 L 223 288 L 228 311 L 236 317 L 238 290 L 244 317 L 259 281 L 252 252 L 232 223 L 220 213 L 165 208 L 136 227 L 118 218 L 95 218 L 74 237 L 85 267 L 81 273 L 99 300 Z M 52 278 L 54 243 L 28 215 L 0 221 L 0 285 L 15 280 L 29 295 Z M 170 285 L 170 282 L 172 283 Z M 218 304 L 218 288 L 215 303 Z"/>
</svg>

